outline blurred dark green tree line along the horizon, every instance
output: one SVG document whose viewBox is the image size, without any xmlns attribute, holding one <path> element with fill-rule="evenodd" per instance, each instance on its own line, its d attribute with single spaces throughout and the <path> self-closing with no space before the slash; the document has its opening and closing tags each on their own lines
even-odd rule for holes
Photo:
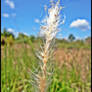
<svg viewBox="0 0 92 92">
<path fill-rule="evenodd" d="M 10 44 L 12 45 L 13 42 L 15 40 L 24 40 L 24 39 L 30 39 L 32 42 L 34 42 L 35 40 L 38 40 L 38 39 L 42 39 L 41 37 L 35 37 L 34 35 L 25 35 L 24 33 L 19 33 L 17 37 L 15 37 L 15 35 L 12 33 L 12 32 L 9 32 L 7 31 L 6 28 L 3 29 L 3 32 L 1 32 L 1 45 L 4 45 L 4 44 Z M 73 42 L 75 41 L 76 37 L 73 35 L 73 34 L 70 34 L 68 36 L 68 39 L 65 40 L 65 39 L 61 39 L 62 41 L 69 41 L 69 42 Z M 88 42 L 90 42 L 90 37 L 86 38 L 85 40 L 87 40 Z M 58 41 L 60 39 L 56 39 L 56 41 Z"/>
</svg>

